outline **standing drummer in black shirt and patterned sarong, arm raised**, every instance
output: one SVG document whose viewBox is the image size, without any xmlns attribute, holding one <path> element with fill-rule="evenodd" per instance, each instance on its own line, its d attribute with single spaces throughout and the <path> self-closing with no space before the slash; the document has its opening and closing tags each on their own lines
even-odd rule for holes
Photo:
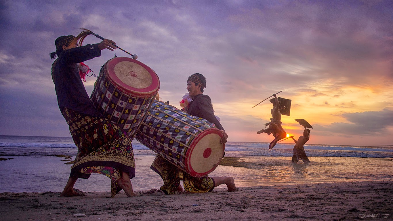
<svg viewBox="0 0 393 221">
<path fill-rule="evenodd" d="M 116 49 L 115 42 L 105 39 L 99 44 L 78 47 L 80 35 L 77 38 L 72 35 L 57 38 L 56 52 L 51 53 L 52 59 L 58 56 L 52 64 L 52 79 L 59 109 L 78 147 L 75 164 L 61 196 L 81 195 L 73 188 L 77 179 L 88 179 L 91 173 L 100 173 L 110 177 L 112 197 L 120 190 L 132 197 L 136 195 L 130 181 L 135 176 L 132 140 L 94 109 L 79 74 L 81 65 L 78 65 L 101 56 L 101 50 L 113 51 Z"/>
</svg>

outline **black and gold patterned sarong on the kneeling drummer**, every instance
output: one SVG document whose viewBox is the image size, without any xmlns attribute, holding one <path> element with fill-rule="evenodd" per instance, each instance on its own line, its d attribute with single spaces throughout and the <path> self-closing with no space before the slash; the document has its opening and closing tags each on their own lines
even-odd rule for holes
<svg viewBox="0 0 393 221">
<path fill-rule="evenodd" d="M 164 185 L 161 186 L 160 190 L 165 194 L 176 193 L 176 188 L 180 185 L 180 180 L 183 180 L 184 190 L 190 193 L 210 192 L 215 186 L 214 180 L 210 177 L 192 177 L 160 155 L 157 155 L 150 168 L 156 171 L 164 181 Z"/>
</svg>

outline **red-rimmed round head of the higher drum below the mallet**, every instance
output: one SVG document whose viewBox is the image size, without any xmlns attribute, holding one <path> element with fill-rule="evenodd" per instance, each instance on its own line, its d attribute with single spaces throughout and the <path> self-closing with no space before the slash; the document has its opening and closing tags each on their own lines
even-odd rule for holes
<svg viewBox="0 0 393 221">
<path fill-rule="evenodd" d="M 129 57 L 115 57 L 107 61 L 108 78 L 119 88 L 137 96 L 151 96 L 160 88 L 156 72 L 149 66 Z"/>
</svg>

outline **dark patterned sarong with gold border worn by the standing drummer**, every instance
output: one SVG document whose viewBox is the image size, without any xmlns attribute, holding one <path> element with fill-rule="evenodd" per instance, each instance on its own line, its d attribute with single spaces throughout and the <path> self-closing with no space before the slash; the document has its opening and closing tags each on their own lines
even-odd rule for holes
<svg viewBox="0 0 393 221">
<path fill-rule="evenodd" d="M 118 190 L 120 171 L 135 176 L 135 160 L 131 139 L 114 123 L 105 118 L 92 117 L 72 109 L 62 108 L 70 126 L 78 154 L 71 167 L 70 177 L 88 179 L 91 173 L 100 173 L 111 179 L 111 195 Z"/>
</svg>

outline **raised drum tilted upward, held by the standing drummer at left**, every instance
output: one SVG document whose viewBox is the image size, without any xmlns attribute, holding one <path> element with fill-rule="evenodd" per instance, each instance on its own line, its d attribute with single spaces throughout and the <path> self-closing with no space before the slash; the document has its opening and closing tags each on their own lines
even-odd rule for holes
<svg viewBox="0 0 393 221">
<path fill-rule="evenodd" d="M 129 57 L 107 61 L 90 96 L 94 107 L 134 138 L 160 88 L 157 74 Z"/>
</svg>

